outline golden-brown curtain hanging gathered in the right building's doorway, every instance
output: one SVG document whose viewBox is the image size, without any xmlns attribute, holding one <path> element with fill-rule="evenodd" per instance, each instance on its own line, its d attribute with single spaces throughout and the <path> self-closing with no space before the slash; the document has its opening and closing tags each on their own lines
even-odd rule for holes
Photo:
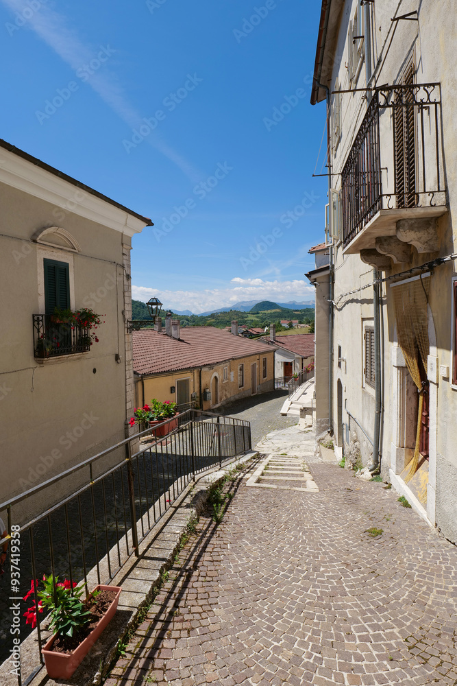
<svg viewBox="0 0 457 686">
<path fill-rule="evenodd" d="M 427 374 L 427 358 L 430 352 L 427 312 L 429 285 L 430 276 L 421 276 L 419 279 L 415 279 L 415 281 L 407 281 L 406 283 L 399 283 L 398 285 L 395 284 L 392 288 L 398 343 L 400 348 L 402 348 L 408 372 L 410 372 L 412 381 L 416 384 L 419 392 L 416 445 L 406 481 L 409 481 L 412 478 L 419 465 L 424 391 L 420 362 L 422 362 L 425 373 Z"/>
</svg>

